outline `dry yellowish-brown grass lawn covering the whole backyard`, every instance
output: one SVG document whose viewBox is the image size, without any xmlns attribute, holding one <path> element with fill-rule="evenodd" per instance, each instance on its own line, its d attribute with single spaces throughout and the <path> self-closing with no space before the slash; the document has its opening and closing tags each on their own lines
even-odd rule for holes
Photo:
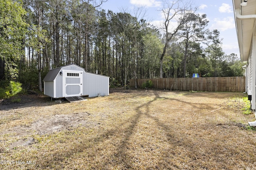
<svg viewBox="0 0 256 170">
<path fill-rule="evenodd" d="M 0 106 L 1 170 L 253 170 L 254 114 L 230 92 L 112 90 Z M 23 162 L 24 161 L 24 162 Z"/>
</svg>

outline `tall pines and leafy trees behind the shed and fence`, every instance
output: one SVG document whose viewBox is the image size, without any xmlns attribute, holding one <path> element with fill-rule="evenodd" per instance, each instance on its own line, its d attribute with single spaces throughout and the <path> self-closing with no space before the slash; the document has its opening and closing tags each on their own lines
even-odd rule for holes
<svg viewBox="0 0 256 170">
<path fill-rule="evenodd" d="M 238 56 L 222 51 L 218 30 L 206 29 L 206 15 L 192 3 L 163 6 L 177 11 L 165 23 L 179 23 L 171 31 L 165 24 L 165 32 L 136 15 L 139 8 L 114 13 L 102 3 L 108 2 L 0 0 L 1 86 L 15 80 L 42 91 L 48 70 L 71 63 L 110 76 L 113 86 L 131 78 L 243 75 Z"/>
</svg>

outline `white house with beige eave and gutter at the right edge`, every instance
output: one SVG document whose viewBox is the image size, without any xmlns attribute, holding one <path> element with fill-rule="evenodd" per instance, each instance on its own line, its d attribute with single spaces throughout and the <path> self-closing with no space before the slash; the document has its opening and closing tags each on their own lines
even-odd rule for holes
<svg viewBox="0 0 256 170">
<path fill-rule="evenodd" d="M 247 93 L 251 95 L 252 109 L 256 108 L 256 1 L 249 0 L 248 5 L 241 6 L 241 0 L 232 0 L 236 20 L 236 33 L 242 62 L 247 62 Z M 248 96 L 249 97 L 249 96 Z M 256 126 L 256 121 L 248 122 Z"/>
</svg>

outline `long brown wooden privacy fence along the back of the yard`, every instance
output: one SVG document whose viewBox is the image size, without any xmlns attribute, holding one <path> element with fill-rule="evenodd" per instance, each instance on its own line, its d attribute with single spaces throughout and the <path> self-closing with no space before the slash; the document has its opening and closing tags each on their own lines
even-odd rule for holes
<svg viewBox="0 0 256 170">
<path fill-rule="evenodd" d="M 137 87 L 147 80 L 153 82 L 153 88 L 182 91 L 206 92 L 245 92 L 245 77 L 200 77 L 200 78 L 150 78 L 137 79 Z M 135 79 L 130 80 L 130 87 L 135 87 Z"/>
</svg>

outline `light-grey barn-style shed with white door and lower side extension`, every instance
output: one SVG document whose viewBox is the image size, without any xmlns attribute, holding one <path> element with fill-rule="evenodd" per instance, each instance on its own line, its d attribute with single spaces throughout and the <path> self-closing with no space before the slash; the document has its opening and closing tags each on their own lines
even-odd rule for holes
<svg viewBox="0 0 256 170">
<path fill-rule="evenodd" d="M 49 70 L 43 81 L 44 94 L 52 98 L 109 95 L 108 76 L 86 72 L 76 64 Z"/>
</svg>

